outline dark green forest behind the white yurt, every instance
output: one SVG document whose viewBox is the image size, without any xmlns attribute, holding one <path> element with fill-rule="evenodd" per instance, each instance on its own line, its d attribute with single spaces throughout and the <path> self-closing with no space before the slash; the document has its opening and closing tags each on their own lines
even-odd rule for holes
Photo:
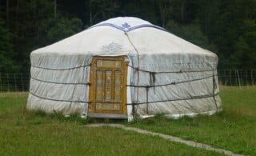
<svg viewBox="0 0 256 156">
<path fill-rule="evenodd" d="M 255 69 L 256 0 L 0 0 L 0 73 L 29 73 L 30 52 L 118 16 L 142 18 Z"/>
</svg>

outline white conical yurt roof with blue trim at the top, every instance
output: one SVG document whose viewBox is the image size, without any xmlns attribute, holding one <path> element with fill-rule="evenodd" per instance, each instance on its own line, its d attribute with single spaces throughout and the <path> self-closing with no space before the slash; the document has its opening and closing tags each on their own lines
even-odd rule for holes
<svg viewBox="0 0 256 156">
<path fill-rule="evenodd" d="M 140 18 L 110 18 L 32 54 L 204 54 L 214 53 Z"/>
</svg>

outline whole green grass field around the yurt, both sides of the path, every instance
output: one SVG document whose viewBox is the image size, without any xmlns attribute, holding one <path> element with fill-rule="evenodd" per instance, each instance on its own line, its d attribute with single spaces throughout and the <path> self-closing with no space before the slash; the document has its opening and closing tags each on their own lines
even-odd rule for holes
<svg viewBox="0 0 256 156">
<path fill-rule="evenodd" d="M 122 123 L 256 155 L 256 88 L 221 86 L 220 94 L 219 114 L 178 120 L 158 115 Z M 88 120 L 76 116 L 29 112 L 26 99 L 26 93 L 0 94 L 0 155 L 217 155 L 126 130 L 86 127 Z"/>
</svg>

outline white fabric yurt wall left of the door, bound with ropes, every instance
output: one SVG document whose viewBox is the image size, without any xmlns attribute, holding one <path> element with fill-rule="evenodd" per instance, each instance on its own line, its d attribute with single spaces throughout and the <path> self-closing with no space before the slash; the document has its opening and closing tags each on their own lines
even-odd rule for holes
<svg viewBox="0 0 256 156">
<path fill-rule="evenodd" d="M 31 54 L 27 108 L 47 113 L 84 114 L 88 104 L 90 58 L 86 55 Z"/>
</svg>

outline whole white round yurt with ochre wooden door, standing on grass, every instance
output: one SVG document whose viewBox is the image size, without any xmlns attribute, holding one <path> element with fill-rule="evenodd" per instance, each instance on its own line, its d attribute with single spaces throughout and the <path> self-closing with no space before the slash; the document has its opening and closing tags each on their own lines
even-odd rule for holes
<svg viewBox="0 0 256 156">
<path fill-rule="evenodd" d="M 28 110 L 178 118 L 222 110 L 218 56 L 140 18 L 110 18 L 30 54 Z"/>
</svg>

